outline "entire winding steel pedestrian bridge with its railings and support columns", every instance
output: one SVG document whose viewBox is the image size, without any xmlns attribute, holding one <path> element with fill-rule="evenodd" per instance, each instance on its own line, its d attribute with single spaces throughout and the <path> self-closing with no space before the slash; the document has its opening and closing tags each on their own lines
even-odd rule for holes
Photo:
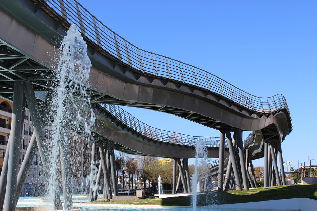
<svg viewBox="0 0 317 211">
<path fill-rule="evenodd" d="M 75 0 L 1 1 L 0 20 L 1 97 L 13 101 L 13 92 L 19 90 L 18 84 L 20 84 L 23 86 L 25 95 L 28 95 L 28 102 L 30 100 L 31 102 L 37 102 L 38 109 L 41 110 L 43 101 L 40 98 L 32 100 L 34 91 L 43 92 L 49 89 L 50 81 L 54 78 L 56 61 L 59 58 L 57 49 L 60 40 L 66 35 L 69 27 L 76 24 L 87 43 L 87 53 L 92 63 L 89 84 L 86 84 L 86 86 L 90 89 L 91 101 L 99 117 L 93 128 L 96 137 L 100 140 L 102 140 L 102 137 L 107 137 L 108 140 L 113 141 L 116 139 L 116 147 L 126 152 L 177 157 L 178 168 L 182 171 L 183 167 L 179 158 L 192 157 L 192 142 L 195 137 L 186 140 L 183 134 L 177 134 L 182 136 L 181 141 L 183 143 L 179 142 L 180 140 L 177 140 L 177 143 L 171 143 L 171 140 L 162 141 L 166 138 L 166 135 L 172 136 L 172 134 L 166 131 L 163 134 L 163 131 L 161 131 L 162 134 L 160 135 L 158 131 L 154 133 L 155 129 L 149 132 L 147 128 L 144 128 L 144 130 L 140 128 L 138 131 L 138 128 L 135 127 L 138 124 L 131 125 L 132 122 L 118 118 L 113 112 L 110 112 L 110 108 L 117 107 L 107 107 L 106 104 L 146 108 L 177 115 L 220 131 L 219 145 L 212 145 L 211 138 L 207 138 L 210 139 L 210 142 L 207 141 L 210 148 L 210 157 L 215 157 L 217 153 L 219 156 L 219 190 L 223 189 L 225 157 L 229 158 L 226 179 L 228 176 L 230 181 L 234 181 L 232 184 L 236 185 L 237 189 L 242 189 L 242 186 L 244 189 L 249 188 L 244 165 L 246 157 L 264 156 L 266 160 L 265 185 L 273 184 L 274 178 L 276 178 L 279 185 L 281 184 L 276 155 L 279 154 L 282 167 L 281 142 L 292 131 L 290 112 L 283 95 L 257 97 L 210 72 L 166 56 L 139 49 L 109 29 Z M 261 80 L 265 81 L 269 77 L 264 75 Z M 23 92 L 20 94 L 23 96 Z M 16 106 L 18 106 L 17 104 Z M 33 104 L 28 105 L 30 111 L 38 111 Z M 100 108 L 102 105 L 105 107 Z M 16 109 L 19 110 L 18 107 Z M 109 109 L 108 113 L 106 112 L 107 109 Z M 36 124 L 36 119 L 39 120 L 40 118 L 32 117 L 33 126 Z M 40 126 L 40 123 L 39 121 L 37 126 Z M 19 130 L 18 127 L 15 128 L 17 128 L 15 130 Z M 38 129 L 41 130 L 41 127 L 38 127 Z M 252 134 L 255 134 L 252 135 L 252 137 L 255 137 L 252 141 L 253 144 L 248 145 L 247 149 L 243 147 L 243 131 L 254 131 Z M 230 132 L 234 132 L 234 139 L 232 139 Z M 34 134 L 36 133 L 37 131 Z M 128 139 L 123 139 L 124 136 Z M 154 136 L 157 140 L 153 139 Z M 225 147 L 225 136 L 228 148 Z M 130 139 L 133 140 L 134 145 L 133 142 L 127 141 Z M 14 144 L 10 144 L 12 146 L 18 146 L 19 141 L 21 143 L 21 140 L 15 140 L 14 138 L 11 138 L 11 140 L 14 141 Z M 234 147 L 235 142 L 236 149 Z M 42 156 L 45 147 L 40 146 L 41 140 L 37 145 L 41 157 L 45 158 L 45 156 Z M 168 147 L 162 147 L 164 145 Z M 178 154 L 168 155 L 168 151 L 164 152 L 163 150 L 167 148 L 173 150 L 179 148 Z M 143 149 L 147 151 L 141 151 Z M 99 150 L 101 158 L 104 152 L 100 146 Z M 248 156 L 244 156 L 244 151 L 248 153 Z M 111 152 L 109 153 L 111 154 Z M 8 175 L 10 175 L 10 177 L 7 177 L 7 186 L 13 188 L 5 193 L 8 202 L 6 210 L 11 210 L 13 205 L 9 202 L 14 202 L 15 195 L 18 198 L 21 192 L 16 191 L 17 168 L 15 166 L 18 163 L 16 152 L 14 149 L 12 149 L 12 152 L 10 150 L 10 159 L 7 154 L 9 153 L 6 153 L 5 162 L 10 167 L 7 167 Z M 236 154 L 238 154 L 237 158 Z M 25 160 L 31 161 L 32 158 Z M 110 159 L 110 161 L 113 162 L 113 159 Z M 186 168 L 188 166 L 186 159 L 183 162 L 185 162 L 184 167 Z M 238 164 L 240 164 L 240 167 Z M 24 163 L 22 165 L 24 166 Z M 43 163 L 43 166 L 49 170 L 47 164 Z M 105 169 L 105 164 L 102 166 Z M 176 159 L 174 160 L 175 166 Z M 28 168 L 25 168 L 26 172 Z M 113 165 L 111 165 L 111 168 L 113 168 Z M 281 174 L 284 176 L 283 168 L 281 170 Z M 0 206 L 3 204 L 5 191 L 5 189 L 3 190 L 4 172 L 6 171 L 3 168 L 0 184 Z M 24 170 L 21 172 L 22 175 L 23 172 Z M 104 175 L 106 175 L 105 172 L 106 170 L 104 170 Z M 186 171 L 186 174 L 188 174 L 188 171 Z M 176 175 L 176 167 L 173 170 L 173 175 Z M 112 177 L 115 181 L 116 175 L 114 173 L 112 173 Z M 183 175 L 181 177 L 183 186 L 185 187 L 187 182 L 189 188 L 189 176 L 184 177 Z M 285 183 L 285 178 L 282 179 L 282 182 Z M 108 183 L 108 187 L 110 187 L 110 179 Z M 173 178 L 173 184 L 175 183 Z M 21 179 L 21 184 L 24 184 L 23 179 Z M 115 187 L 115 184 L 113 187 Z M 174 185 L 173 192 L 175 192 Z M 71 197 L 69 194 L 71 194 L 70 191 L 65 198 Z M 108 195 L 111 195 L 110 190 L 108 190 Z M 60 200 L 58 201 L 54 202 L 56 209 L 61 206 Z"/>
</svg>

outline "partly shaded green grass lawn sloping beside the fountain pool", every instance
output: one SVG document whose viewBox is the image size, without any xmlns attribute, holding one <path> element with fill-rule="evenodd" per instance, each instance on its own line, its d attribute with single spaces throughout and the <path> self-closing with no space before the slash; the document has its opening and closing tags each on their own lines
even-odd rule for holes
<svg viewBox="0 0 317 211">
<path fill-rule="evenodd" d="M 212 204 L 231 204 L 242 202 L 257 202 L 276 199 L 306 197 L 317 200 L 317 184 L 288 185 L 271 188 L 255 188 L 252 190 L 230 190 L 228 192 L 213 192 L 197 195 L 197 206 Z M 102 204 L 138 204 L 164 206 L 191 206 L 191 196 L 170 198 L 146 198 L 139 201 L 93 202 Z"/>
</svg>

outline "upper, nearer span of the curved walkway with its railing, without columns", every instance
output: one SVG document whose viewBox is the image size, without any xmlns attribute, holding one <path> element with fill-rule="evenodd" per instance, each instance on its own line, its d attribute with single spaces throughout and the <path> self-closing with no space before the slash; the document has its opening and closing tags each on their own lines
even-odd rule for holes
<svg viewBox="0 0 317 211">
<path fill-rule="evenodd" d="M 141 50 L 76 1 L 39 2 L 1 3 L 5 30 L 0 39 L 22 55 L 2 65 L 5 80 L 25 79 L 37 89 L 47 87 L 52 74 L 43 72 L 54 69 L 56 56 L 51 40 L 64 36 L 76 23 L 93 64 L 89 85 L 93 102 L 159 110 L 219 130 L 258 131 L 270 143 L 283 141 L 292 131 L 284 96 L 256 97 L 197 67 Z M 6 53 L 2 56 L 8 57 L 10 52 Z M 10 99 L 12 87 L 10 83 L 5 87 L 9 90 L 2 90 L 2 96 Z"/>
</svg>

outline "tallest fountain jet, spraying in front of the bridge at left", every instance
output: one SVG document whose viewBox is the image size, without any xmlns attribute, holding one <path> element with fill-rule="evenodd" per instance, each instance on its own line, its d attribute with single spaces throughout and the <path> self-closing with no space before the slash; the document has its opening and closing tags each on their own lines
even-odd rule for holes
<svg viewBox="0 0 317 211">
<path fill-rule="evenodd" d="M 72 25 L 67 35 L 61 42 L 61 56 L 56 68 L 56 79 L 53 84 L 53 106 L 52 116 L 52 141 L 50 141 L 51 174 L 49 177 L 49 195 L 54 201 L 54 195 L 58 195 L 60 178 L 57 172 L 61 169 L 64 209 L 72 209 L 72 175 L 70 158 L 70 147 L 72 140 L 69 125 L 76 120 L 83 124 L 86 139 L 90 139 L 90 128 L 94 124 L 94 113 L 85 109 L 90 108 L 90 97 L 87 94 L 87 85 L 91 67 L 87 55 L 87 44 L 82 39 L 77 25 Z M 74 95 L 81 96 L 76 99 Z M 76 113 L 74 113 L 76 112 Z M 87 114 L 88 113 L 88 114 Z M 73 126 L 72 129 L 76 127 Z M 60 159 L 59 159 L 60 157 Z M 58 161 L 61 160 L 61 166 Z M 93 178 L 91 175 L 90 178 Z"/>
</svg>

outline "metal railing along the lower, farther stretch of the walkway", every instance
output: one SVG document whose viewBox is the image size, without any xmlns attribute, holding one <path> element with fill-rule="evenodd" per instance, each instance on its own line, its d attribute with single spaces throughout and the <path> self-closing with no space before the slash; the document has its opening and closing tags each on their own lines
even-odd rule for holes
<svg viewBox="0 0 317 211">
<path fill-rule="evenodd" d="M 191 136 L 182 133 L 161 130 L 139 121 L 133 115 L 121 109 L 118 105 L 101 104 L 100 106 L 118 121 L 126 125 L 126 127 L 132 128 L 134 131 L 146 136 L 149 139 L 192 147 L 195 147 L 197 140 L 202 139 L 205 141 L 206 147 L 219 147 L 218 137 Z M 225 147 L 228 147 L 226 140 Z"/>
</svg>

